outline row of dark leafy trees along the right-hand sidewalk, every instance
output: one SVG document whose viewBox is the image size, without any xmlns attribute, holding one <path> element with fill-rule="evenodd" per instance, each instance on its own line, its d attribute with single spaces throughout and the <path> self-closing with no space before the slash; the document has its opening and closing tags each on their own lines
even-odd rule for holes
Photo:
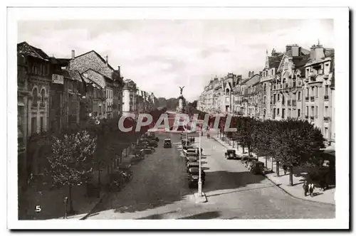
<svg viewBox="0 0 356 236">
<path fill-rule="evenodd" d="M 243 152 L 248 149 L 257 156 L 276 161 L 276 175 L 279 166 L 286 165 L 290 173 L 290 185 L 293 185 L 293 167 L 315 167 L 323 164 L 325 148 L 323 134 L 318 127 L 300 119 L 281 121 L 261 121 L 252 117 L 231 117 L 230 127 L 236 132 L 224 132 L 227 117 L 220 117 L 219 130 L 232 145 L 242 146 Z M 216 117 L 212 118 L 213 120 Z M 212 124 L 212 121 L 209 121 Z M 272 166 L 271 166 L 272 167 Z M 335 176 L 335 166 L 330 166 L 329 173 Z M 335 177 L 333 177 L 335 178 Z M 335 181 L 335 180 L 333 180 Z"/>
</svg>

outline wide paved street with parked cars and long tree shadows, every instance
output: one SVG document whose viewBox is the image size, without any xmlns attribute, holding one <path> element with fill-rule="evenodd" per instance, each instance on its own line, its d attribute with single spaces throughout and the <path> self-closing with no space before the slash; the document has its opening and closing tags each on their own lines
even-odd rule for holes
<svg viewBox="0 0 356 236">
<path fill-rule="evenodd" d="M 207 203 L 195 203 L 194 189 L 187 186 L 179 134 L 157 134 L 154 154 L 132 167 L 134 178 L 112 193 L 100 212 L 88 219 L 239 219 L 239 218 L 334 218 L 335 207 L 291 198 L 263 176 L 249 173 L 240 161 L 224 159 L 225 148 L 202 137 L 203 191 Z M 172 149 L 163 149 L 170 137 Z"/>
</svg>

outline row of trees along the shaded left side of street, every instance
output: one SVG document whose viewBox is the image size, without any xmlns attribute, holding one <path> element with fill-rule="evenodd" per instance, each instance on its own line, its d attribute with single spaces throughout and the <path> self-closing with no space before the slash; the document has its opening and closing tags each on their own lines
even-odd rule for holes
<svg viewBox="0 0 356 236">
<path fill-rule="evenodd" d="M 166 109 L 155 109 L 152 115 L 153 124 Z M 44 175 L 36 182 L 50 183 L 49 186 L 68 186 L 69 201 L 71 187 L 89 183 L 93 172 L 98 171 L 98 188 L 100 191 L 100 171 L 110 171 L 120 166 L 122 151 L 140 139 L 150 128 L 144 126 L 140 132 L 121 132 L 117 122 L 119 119 L 103 119 L 100 122 L 90 120 L 85 126 L 74 126 L 60 132 L 43 132 L 31 136 L 29 149 L 38 149 L 37 159 L 41 160 Z M 99 124 L 98 124 L 99 123 Z M 135 127 L 136 121 L 127 117 L 124 127 Z M 31 163 L 31 162 L 30 162 Z M 109 172 L 110 172 L 109 171 Z M 70 209 L 73 206 L 70 202 Z"/>
</svg>

